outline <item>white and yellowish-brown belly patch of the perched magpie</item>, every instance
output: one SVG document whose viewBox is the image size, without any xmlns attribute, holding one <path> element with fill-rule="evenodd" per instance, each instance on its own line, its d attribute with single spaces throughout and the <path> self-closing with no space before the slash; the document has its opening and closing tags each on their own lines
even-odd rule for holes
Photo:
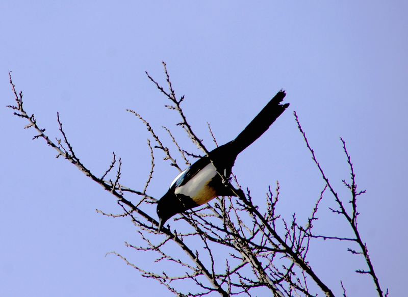
<svg viewBox="0 0 408 297">
<path fill-rule="evenodd" d="M 175 189 L 174 193 L 182 194 L 191 197 L 198 205 L 207 203 L 211 199 L 217 197 L 213 187 L 208 183 L 217 175 L 217 170 L 214 165 L 210 163 L 201 169 L 193 178 L 186 184 Z"/>
</svg>

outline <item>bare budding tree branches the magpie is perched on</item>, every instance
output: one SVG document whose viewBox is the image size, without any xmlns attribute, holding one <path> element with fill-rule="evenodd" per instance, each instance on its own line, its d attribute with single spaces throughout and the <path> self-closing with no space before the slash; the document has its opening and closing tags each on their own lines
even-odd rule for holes
<svg viewBox="0 0 408 297">
<path fill-rule="evenodd" d="M 156 85 L 158 90 L 169 100 L 166 107 L 177 113 L 181 126 L 191 141 L 202 151 L 203 156 L 208 156 L 209 150 L 203 145 L 200 138 L 194 133 L 187 117 L 182 109 L 184 96 L 178 98 L 172 87 L 166 64 L 164 65 L 167 88 L 152 78 L 147 72 L 147 77 Z M 162 232 L 158 231 L 156 213 L 150 214 L 151 204 L 157 203 L 157 199 L 148 195 L 148 186 L 154 177 L 154 169 L 157 152 L 164 155 L 164 161 L 170 166 L 182 171 L 182 166 L 173 157 L 174 152 L 158 137 L 152 126 L 136 111 L 128 110 L 134 114 L 146 126 L 150 132 L 151 140 L 147 141 L 150 150 L 151 166 L 144 188 L 134 190 L 121 183 L 121 158 L 113 153 L 113 158 L 108 169 L 103 173 L 94 173 L 87 168 L 79 156 L 74 152 L 62 122 L 57 113 L 60 138 L 50 139 L 45 129 L 39 127 L 34 115 L 28 114 L 23 107 L 22 92 L 17 93 L 10 74 L 10 84 L 15 96 L 16 105 L 8 105 L 14 110 L 14 115 L 28 122 L 25 128 L 33 128 L 36 135 L 33 139 L 43 139 L 57 152 L 57 158 L 63 157 L 68 160 L 86 176 L 109 191 L 120 206 L 121 213 L 99 213 L 108 217 L 126 217 L 134 224 L 140 235 L 137 245 L 128 242 L 125 245 L 137 252 L 148 252 L 156 256 L 156 265 L 145 268 L 133 263 L 121 254 L 112 252 L 125 263 L 131 265 L 142 276 L 152 278 L 160 282 L 167 289 L 179 296 L 203 296 L 216 295 L 259 295 L 269 292 L 274 296 L 317 296 L 323 292 L 326 296 L 335 296 L 334 292 L 325 284 L 318 272 L 309 264 L 307 256 L 312 240 L 331 239 L 349 242 L 348 251 L 365 259 L 366 267 L 356 270 L 356 273 L 368 275 L 372 278 L 378 296 L 388 296 L 388 290 L 384 292 L 374 272 L 370 260 L 368 248 L 358 229 L 357 201 L 365 191 L 358 190 L 355 173 L 346 143 L 341 139 L 346 161 L 350 170 L 350 180 L 343 180 L 344 185 L 350 192 L 351 199 L 346 204 L 347 198 L 340 197 L 331 185 L 318 162 L 315 151 L 309 144 L 308 138 L 303 131 L 298 116 L 294 113 L 298 129 L 305 141 L 307 149 L 312 154 L 312 159 L 320 171 L 325 186 L 321 193 L 311 203 L 311 214 L 307 222 L 301 224 L 296 219 L 296 214 L 288 220 L 282 218 L 276 212 L 279 202 L 279 183 L 275 189 L 269 186 L 265 206 L 259 207 L 254 204 L 251 192 L 248 188 L 242 188 L 238 179 L 233 175 L 231 187 L 237 197 L 219 197 L 215 203 L 207 204 L 199 209 L 189 210 L 179 214 L 175 220 L 182 221 L 181 230 L 167 227 Z M 190 165 L 190 158 L 200 157 L 183 149 L 173 136 L 171 129 L 164 127 L 169 134 L 177 153 L 186 165 Z M 209 125 L 209 132 L 217 145 L 216 138 Z M 219 173 L 226 180 L 226 177 Z M 340 215 L 352 231 L 352 237 L 341 237 L 336 234 L 316 234 L 314 224 L 318 221 L 317 212 L 319 203 L 329 192 L 337 204 L 337 208 L 330 208 L 334 214 Z M 136 195 L 137 202 L 130 197 Z M 147 210 L 146 210 L 147 209 Z M 260 210 L 264 209 L 264 210 Z M 177 246 L 177 249 L 174 249 Z M 166 262 L 166 263 L 165 263 Z M 164 267 L 164 268 L 163 268 Z M 164 269 L 164 271 L 163 271 Z M 187 291 L 186 282 L 192 291 Z M 346 289 L 343 283 L 343 296 Z"/>
</svg>

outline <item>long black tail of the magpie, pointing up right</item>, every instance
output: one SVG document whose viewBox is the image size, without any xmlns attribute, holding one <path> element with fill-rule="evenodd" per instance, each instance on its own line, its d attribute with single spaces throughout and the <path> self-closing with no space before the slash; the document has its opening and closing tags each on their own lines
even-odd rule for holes
<svg viewBox="0 0 408 297">
<path fill-rule="evenodd" d="M 231 142 L 231 147 L 237 155 L 268 130 L 269 126 L 288 108 L 289 103 L 281 104 L 285 96 L 285 91 L 279 91 L 245 129 L 239 133 L 237 138 Z"/>
</svg>

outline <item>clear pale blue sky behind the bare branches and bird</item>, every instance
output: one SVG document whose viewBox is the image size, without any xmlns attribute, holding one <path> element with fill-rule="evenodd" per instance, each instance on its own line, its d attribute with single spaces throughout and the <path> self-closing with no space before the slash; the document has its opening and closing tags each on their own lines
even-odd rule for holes
<svg viewBox="0 0 408 297">
<path fill-rule="evenodd" d="M 81 160 L 102 173 L 115 151 L 123 180 L 142 188 L 149 169 L 138 111 L 160 130 L 175 123 L 165 98 L 144 71 L 163 78 L 168 64 L 185 112 L 212 144 L 234 138 L 279 89 L 290 109 L 243 152 L 235 173 L 263 203 L 281 182 L 279 211 L 309 214 L 323 187 L 292 115 L 297 111 L 321 165 L 339 193 L 349 173 L 339 137 L 348 145 L 361 198 L 360 229 L 382 287 L 406 293 L 408 176 L 408 19 L 406 1 L 2 1 L 0 94 L 13 103 L 8 72 L 25 108 L 50 136 L 56 113 Z M 163 81 L 163 80 L 162 80 Z M 109 251 L 152 265 L 123 246 L 138 237 L 115 200 L 43 141 L 10 110 L 0 109 L 0 295 L 170 296 L 158 283 Z M 191 146 L 190 146 L 191 147 Z M 150 195 L 161 197 L 177 172 L 157 160 Z M 324 208 L 333 205 L 326 197 Z M 324 221 L 323 221 L 324 220 Z M 348 234 L 322 209 L 318 230 Z M 375 295 L 372 281 L 346 245 L 313 246 L 310 261 L 340 294 Z M 333 262 L 330 262 L 333 261 Z M 327 263 L 330 263 L 329 265 Z"/>
</svg>

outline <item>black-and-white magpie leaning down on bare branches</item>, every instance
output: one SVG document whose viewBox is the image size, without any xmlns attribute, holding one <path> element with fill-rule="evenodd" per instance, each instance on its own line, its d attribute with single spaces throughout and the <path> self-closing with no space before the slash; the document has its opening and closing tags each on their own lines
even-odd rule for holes
<svg viewBox="0 0 408 297">
<path fill-rule="evenodd" d="M 159 232 L 177 213 L 208 203 L 218 196 L 237 196 L 229 185 L 235 160 L 288 108 L 289 103 L 282 103 L 285 96 L 286 92 L 280 90 L 234 140 L 200 157 L 174 178 L 157 204 Z"/>
</svg>

